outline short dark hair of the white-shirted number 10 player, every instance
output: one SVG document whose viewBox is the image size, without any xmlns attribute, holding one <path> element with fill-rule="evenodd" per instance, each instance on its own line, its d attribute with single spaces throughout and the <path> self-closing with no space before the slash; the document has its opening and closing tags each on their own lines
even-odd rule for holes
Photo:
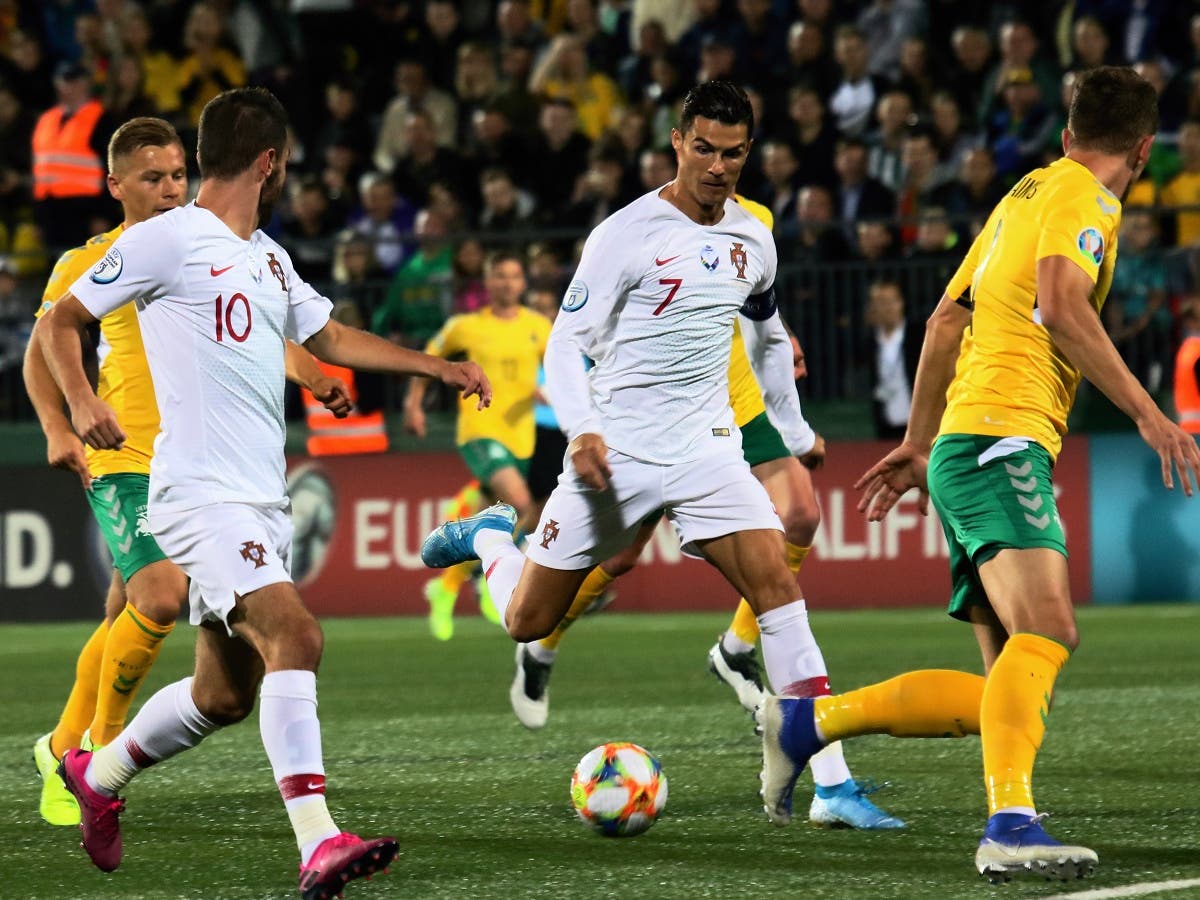
<svg viewBox="0 0 1200 900">
<path fill-rule="evenodd" d="M 234 178 L 264 150 L 281 157 L 288 145 L 288 114 L 265 88 L 235 88 L 204 106 L 196 156 L 200 178 Z"/>
</svg>

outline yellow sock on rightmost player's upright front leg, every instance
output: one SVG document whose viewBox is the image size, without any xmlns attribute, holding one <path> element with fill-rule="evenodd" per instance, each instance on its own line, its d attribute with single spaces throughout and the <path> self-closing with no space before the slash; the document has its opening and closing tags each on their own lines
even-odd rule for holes
<svg viewBox="0 0 1200 900">
<path fill-rule="evenodd" d="M 1045 734 L 1055 679 L 1069 656 L 1057 641 L 1016 634 L 991 667 L 979 710 L 989 814 L 1033 808 L 1033 760 Z"/>
</svg>

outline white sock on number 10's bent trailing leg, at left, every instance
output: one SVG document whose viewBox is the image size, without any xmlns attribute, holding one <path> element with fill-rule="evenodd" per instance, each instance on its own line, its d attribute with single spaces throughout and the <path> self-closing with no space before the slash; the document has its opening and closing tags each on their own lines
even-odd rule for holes
<svg viewBox="0 0 1200 900">
<path fill-rule="evenodd" d="M 91 756 L 84 780 L 94 791 L 115 794 L 142 769 L 188 750 L 217 730 L 192 700 L 192 679 L 156 691 L 112 744 Z"/>
</svg>

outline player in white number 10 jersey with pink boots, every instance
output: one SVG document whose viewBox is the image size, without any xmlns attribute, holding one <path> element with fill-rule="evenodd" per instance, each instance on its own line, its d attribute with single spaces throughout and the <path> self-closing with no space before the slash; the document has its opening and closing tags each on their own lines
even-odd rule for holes
<svg viewBox="0 0 1200 900">
<path fill-rule="evenodd" d="M 262 89 L 226 91 L 200 118 L 200 190 L 191 205 L 127 229 L 42 317 L 42 346 L 79 436 L 120 446 L 124 432 L 84 377 L 79 331 L 136 301 L 162 426 L 150 470 L 151 530 L 191 578 L 196 670 L 142 707 L 109 745 L 68 751 L 59 773 L 79 802 L 84 847 L 121 859 L 116 797 L 138 772 L 246 718 L 262 685 L 263 744 L 300 848 L 300 894 L 328 900 L 384 868 L 394 838 L 341 832 L 325 805 L 317 719 L 320 626 L 292 583 L 283 478 L 283 338 L 335 365 L 491 389 L 474 364 L 450 364 L 329 318 L 258 230 L 287 169 L 287 113 Z"/>
</svg>

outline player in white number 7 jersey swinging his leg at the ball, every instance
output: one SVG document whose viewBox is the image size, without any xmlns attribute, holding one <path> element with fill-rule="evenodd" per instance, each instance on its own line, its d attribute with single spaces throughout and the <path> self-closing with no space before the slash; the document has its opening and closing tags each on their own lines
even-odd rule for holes
<svg viewBox="0 0 1200 900">
<path fill-rule="evenodd" d="M 665 509 L 685 552 L 716 565 L 754 607 L 768 678 L 786 695 L 824 664 L 728 402 L 740 312 L 763 347 L 751 354 L 760 383 L 772 395 L 786 385 L 779 400 L 800 419 L 791 341 L 775 310 L 774 244 L 730 199 L 752 118 L 739 88 L 694 89 L 672 132 L 676 180 L 588 238 L 546 350 L 569 457 L 527 553 L 506 534 L 511 511 L 492 508 L 439 528 L 422 558 L 446 565 L 478 554 L 509 634 L 532 641 L 557 625 L 593 565 Z M 596 364 L 589 374 L 581 354 Z"/>
</svg>

